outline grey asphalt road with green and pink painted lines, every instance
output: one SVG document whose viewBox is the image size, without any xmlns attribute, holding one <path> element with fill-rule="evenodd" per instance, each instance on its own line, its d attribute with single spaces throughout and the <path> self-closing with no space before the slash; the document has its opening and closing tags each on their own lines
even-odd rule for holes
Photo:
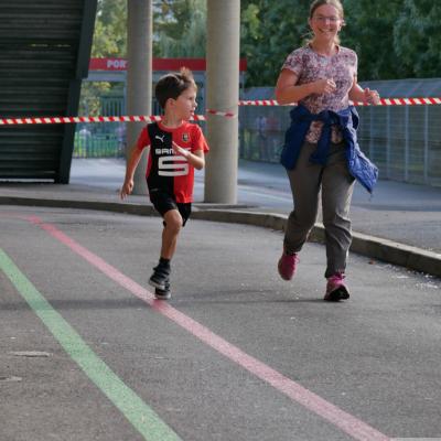
<svg viewBox="0 0 441 441">
<path fill-rule="evenodd" d="M 283 282 L 280 233 L 191 220 L 166 303 L 159 218 L 0 218 L 2 441 L 441 439 L 439 279 L 351 256 L 330 304 L 322 246 Z"/>
</svg>

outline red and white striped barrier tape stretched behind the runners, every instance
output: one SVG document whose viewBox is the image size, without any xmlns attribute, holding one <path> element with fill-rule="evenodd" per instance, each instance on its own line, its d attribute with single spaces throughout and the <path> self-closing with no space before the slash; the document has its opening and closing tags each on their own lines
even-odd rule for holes
<svg viewBox="0 0 441 441">
<path fill-rule="evenodd" d="M 368 106 L 366 103 L 351 103 L 354 106 Z M 241 100 L 239 106 L 280 106 L 276 99 L 257 99 Z M 441 105 L 441 98 L 380 98 L 377 106 L 427 106 Z M 295 106 L 290 104 L 286 106 Z M 230 111 L 219 111 L 208 109 L 209 115 L 233 118 L 237 114 Z M 19 125 L 52 125 L 52 123 L 69 123 L 69 122 L 153 122 L 160 121 L 161 116 L 121 116 L 121 117 L 41 117 L 41 118 L 0 118 L 0 126 L 19 126 Z M 205 121 L 204 115 L 194 115 L 192 120 Z"/>
</svg>

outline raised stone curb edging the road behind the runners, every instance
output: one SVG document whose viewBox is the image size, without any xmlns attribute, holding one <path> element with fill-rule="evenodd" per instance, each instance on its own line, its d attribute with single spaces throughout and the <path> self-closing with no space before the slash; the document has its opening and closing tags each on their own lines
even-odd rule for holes
<svg viewBox="0 0 441 441">
<path fill-rule="evenodd" d="M 58 208 L 96 209 L 114 213 L 127 213 L 141 216 L 157 216 L 151 205 L 129 204 L 123 202 L 100 202 L 37 198 L 23 196 L 0 196 L 0 205 L 20 206 L 45 206 Z M 214 208 L 213 208 L 214 207 Z M 235 208 L 236 207 L 236 208 Z M 232 224 L 252 225 L 284 232 L 288 216 L 273 213 L 246 212 L 237 208 L 244 206 L 232 206 L 224 204 L 194 204 L 192 218 L 200 220 L 223 222 Z M 309 241 L 324 243 L 324 227 L 315 224 Z M 441 277 L 441 255 L 428 251 L 410 245 L 399 244 L 389 239 L 353 232 L 351 251 L 367 256 L 373 259 L 383 260 L 388 263 L 405 267 L 415 271 L 426 272 Z"/>
</svg>

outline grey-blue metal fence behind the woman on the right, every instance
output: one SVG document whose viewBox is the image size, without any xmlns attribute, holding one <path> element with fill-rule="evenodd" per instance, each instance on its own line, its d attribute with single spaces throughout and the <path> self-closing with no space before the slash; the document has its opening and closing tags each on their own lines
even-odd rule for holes
<svg viewBox="0 0 441 441">
<path fill-rule="evenodd" d="M 366 82 L 383 98 L 440 97 L 441 78 Z M 273 88 L 252 88 L 244 99 L 272 99 Z M 278 162 L 290 107 L 241 107 L 240 158 Z M 381 179 L 441 186 L 441 106 L 358 107 L 362 150 Z"/>
</svg>

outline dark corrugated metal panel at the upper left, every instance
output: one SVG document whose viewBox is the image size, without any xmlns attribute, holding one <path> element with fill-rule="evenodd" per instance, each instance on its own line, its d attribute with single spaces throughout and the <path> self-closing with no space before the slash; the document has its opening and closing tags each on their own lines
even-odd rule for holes
<svg viewBox="0 0 441 441">
<path fill-rule="evenodd" d="M 82 40 L 90 3 L 96 9 L 96 0 L 0 2 L 1 118 L 65 116 L 77 107 L 69 100 L 77 99 L 80 45 L 92 44 Z M 63 125 L 1 127 L 0 179 L 60 180 L 65 133 Z"/>
</svg>

